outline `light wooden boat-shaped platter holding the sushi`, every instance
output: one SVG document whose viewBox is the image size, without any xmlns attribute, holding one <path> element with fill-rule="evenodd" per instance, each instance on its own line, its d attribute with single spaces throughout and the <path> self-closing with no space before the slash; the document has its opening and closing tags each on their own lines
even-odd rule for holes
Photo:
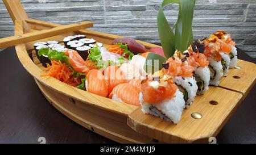
<svg viewBox="0 0 256 155">
<path fill-rule="evenodd" d="M 119 143 L 209 143 L 209 137 L 220 132 L 255 84 L 256 65 L 238 60 L 238 67 L 230 69 L 228 76 L 221 78 L 220 86 L 210 86 L 204 95 L 196 96 L 192 106 L 184 110 L 178 124 L 144 115 L 141 107 L 40 76 L 45 68 L 36 57 L 33 47 L 36 41 L 56 40 L 63 44 L 64 37 L 80 34 L 108 46 L 120 36 L 84 30 L 92 27 L 92 22 L 64 26 L 31 19 L 18 0 L 3 2 L 15 23 L 15 36 L 0 39 L 0 47 L 15 45 L 20 62 L 57 110 L 92 132 Z M 138 42 L 147 49 L 158 47 Z"/>
</svg>

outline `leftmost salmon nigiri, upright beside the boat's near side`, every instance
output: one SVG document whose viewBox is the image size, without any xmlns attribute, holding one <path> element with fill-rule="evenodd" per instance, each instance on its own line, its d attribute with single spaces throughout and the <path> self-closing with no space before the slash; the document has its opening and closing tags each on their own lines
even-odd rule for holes
<svg viewBox="0 0 256 155">
<path fill-rule="evenodd" d="M 86 90 L 102 97 L 108 96 L 108 85 L 100 70 L 92 69 L 89 71 L 86 76 Z"/>
</svg>

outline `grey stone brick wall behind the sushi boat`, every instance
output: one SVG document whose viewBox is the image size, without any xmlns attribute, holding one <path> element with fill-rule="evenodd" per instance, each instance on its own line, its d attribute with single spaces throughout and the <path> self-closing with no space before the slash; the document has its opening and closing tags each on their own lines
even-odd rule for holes
<svg viewBox="0 0 256 155">
<path fill-rule="evenodd" d="M 30 18 L 61 24 L 91 20 L 94 23 L 92 30 L 159 44 L 156 15 L 162 0 L 21 2 Z M 165 8 L 171 25 L 176 21 L 177 8 L 177 5 Z M 197 0 L 194 14 L 193 32 L 196 39 L 216 30 L 226 30 L 232 34 L 238 47 L 256 58 L 256 0 Z M 13 35 L 13 30 L 13 22 L 0 1 L 0 37 Z"/>
</svg>

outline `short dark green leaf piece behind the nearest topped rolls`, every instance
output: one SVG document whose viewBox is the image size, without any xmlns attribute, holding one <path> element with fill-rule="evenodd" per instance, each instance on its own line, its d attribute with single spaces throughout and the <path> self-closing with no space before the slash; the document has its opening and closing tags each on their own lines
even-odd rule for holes
<svg viewBox="0 0 256 155">
<path fill-rule="evenodd" d="M 148 53 L 146 62 L 144 64 L 144 70 L 149 73 L 157 72 L 162 69 L 162 64 L 166 62 L 166 58 L 156 54 Z"/>
</svg>

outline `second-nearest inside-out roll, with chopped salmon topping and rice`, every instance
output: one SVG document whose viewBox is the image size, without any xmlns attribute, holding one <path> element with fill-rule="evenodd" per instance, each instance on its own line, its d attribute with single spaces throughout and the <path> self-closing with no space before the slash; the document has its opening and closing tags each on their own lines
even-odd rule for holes
<svg viewBox="0 0 256 155">
<path fill-rule="evenodd" d="M 193 77 L 193 67 L 188 64 L 187 59 L 181 52 L 175 52 L 173 57 L 168 58 L 163 64 L 164 74 L 174 77 L 173 81 L 183 93 L 186 108 L 188 108 L 197 93 L 196 79 Z"/>
</svg>

